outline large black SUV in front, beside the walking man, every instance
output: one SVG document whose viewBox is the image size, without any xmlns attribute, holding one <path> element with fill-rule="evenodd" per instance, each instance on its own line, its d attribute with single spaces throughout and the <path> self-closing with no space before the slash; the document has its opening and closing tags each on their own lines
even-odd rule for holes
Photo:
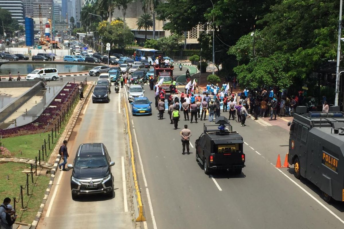
<svg viewBox="0 0 344 229">
<path fill-rule="evenodd" d="M 114 179 L 111 173 L 109 153 L 103 143 L 81 144 L 76 151 L 71 176 L 72 198 L 78 195 L 105 193 L 108 197 L 114 195 Z"/>
</svg>

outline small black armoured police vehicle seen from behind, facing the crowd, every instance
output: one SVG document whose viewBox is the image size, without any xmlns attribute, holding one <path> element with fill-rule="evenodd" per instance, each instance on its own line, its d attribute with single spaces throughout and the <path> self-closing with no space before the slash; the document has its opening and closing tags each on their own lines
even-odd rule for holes
<svg viewBox="0 0 344 229">
<path fill-rule="evenodd" d="M 212 170 L 231 170 L 237 174 L 245 167 L 245 153 L 243 151 L 243 137 L 232 130 L 228 119 L 220 116 L 216 124 L 205 125 L 203 133 L 196 140 L 196 161 L 204 167 L 204 173 Z"/>
</svg>

